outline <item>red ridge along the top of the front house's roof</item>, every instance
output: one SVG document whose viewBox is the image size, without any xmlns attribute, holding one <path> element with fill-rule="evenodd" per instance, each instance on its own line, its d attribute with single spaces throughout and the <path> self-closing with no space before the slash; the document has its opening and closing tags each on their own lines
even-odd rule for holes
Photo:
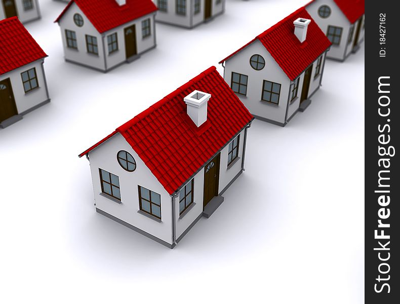
<svg viewBox="0 0 400 304">
<path fill-rule="evenodd" d="M 134 124 L 140 122 L 141 120 L 145 119 L 152 112 L 154 112 L 156 109 L 158 109 L 159 107 L 163 106 L 167 102 L 173 100 L 176 96 L 178 96 L 182 92 L 186 91 L 193 84 L 195 84 L 196 82 L 202 80 L 203 78 L 205 78 L 207 75 L 209 75 L 210 73 L 212 73 L 215 70 L 217 70 L 217 68 L 215 66 L 209 67 L 208 69 L 206 69 L 205 71 L 201 72 L 200 74 L 198 74 L 193 79 L 189 80 L 184 85 L 182 85 L 179 88 L 177 88 L 175 91 L 173 91 L 170 94 L 168 94 L 167 96 L 163 97 L 161 100 L 157 101 L 156 103 L 150 105 L 147 109 L 145 109 L 144 111 L 140 112 L 133 119 L 129 120 L 128 122 L 126 122 L 122 126 L 116 128 L 116 131 L 117 132 L 125 132 L 130 127 L 132 127 L 132 125 L 134 125 Z"/>
</svg>

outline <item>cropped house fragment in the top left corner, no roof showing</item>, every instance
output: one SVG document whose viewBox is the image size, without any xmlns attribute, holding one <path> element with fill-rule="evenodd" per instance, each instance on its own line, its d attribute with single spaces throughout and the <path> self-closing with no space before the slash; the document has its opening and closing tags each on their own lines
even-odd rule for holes
<svg viewBox="0 0 400 304">
<path fill-rule="evenodd" d="M 0 0 L 0 20 L 15 16 L 22 23 L 41 18 L 37 0 Z"/>
</svg>

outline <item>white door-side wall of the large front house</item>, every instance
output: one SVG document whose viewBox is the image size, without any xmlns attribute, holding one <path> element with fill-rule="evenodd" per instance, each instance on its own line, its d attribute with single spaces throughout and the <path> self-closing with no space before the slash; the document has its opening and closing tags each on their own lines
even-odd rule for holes
<svg viewBox="0 0 400 304">
<path fill-rule="evenodd" d="M 221 150 L 218 193 L 221 193 L 229 182 L 231 182 L 231 180 L 242 170 L 244 140 L 245 130 L 240 133 L 238 159 L 229 169 L 227 168 L 229 143 Z M 179 216 L 179 196 L 175 199 L 177 239 L 190 226 L 190 224 L 203 213 L 204 167 L 194 176 L 193 191 L 193 203 L 195 203 L 195 205 L 190 210 L 184 212 L 184 215 L 181 217 Z M 224 204 L 226 204 L 226 202 L 224 202 Z"/>
</svg>

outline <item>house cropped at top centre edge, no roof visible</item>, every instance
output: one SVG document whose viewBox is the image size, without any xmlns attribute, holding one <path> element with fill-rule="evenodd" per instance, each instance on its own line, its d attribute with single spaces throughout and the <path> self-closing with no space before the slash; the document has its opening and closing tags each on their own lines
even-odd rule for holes
<svg viewBox="0 0 400 304">
<path fill-rule="evenodd" d="M 192 28 L 221 15 L 225 0 L 156 0 L 157 22 Z"/>
</svg>

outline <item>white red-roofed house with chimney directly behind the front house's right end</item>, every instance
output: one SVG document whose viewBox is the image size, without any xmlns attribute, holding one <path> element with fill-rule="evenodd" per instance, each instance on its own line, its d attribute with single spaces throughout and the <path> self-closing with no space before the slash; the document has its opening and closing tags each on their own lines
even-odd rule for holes
<svg viewBox="0 0 400 304">
<path fill-rule="evenodd" d="M 255 118 L 285 126 L 321 86 L 330 45 L 303 7 L 220 63 L 225 81 Z"/>
</svg>

